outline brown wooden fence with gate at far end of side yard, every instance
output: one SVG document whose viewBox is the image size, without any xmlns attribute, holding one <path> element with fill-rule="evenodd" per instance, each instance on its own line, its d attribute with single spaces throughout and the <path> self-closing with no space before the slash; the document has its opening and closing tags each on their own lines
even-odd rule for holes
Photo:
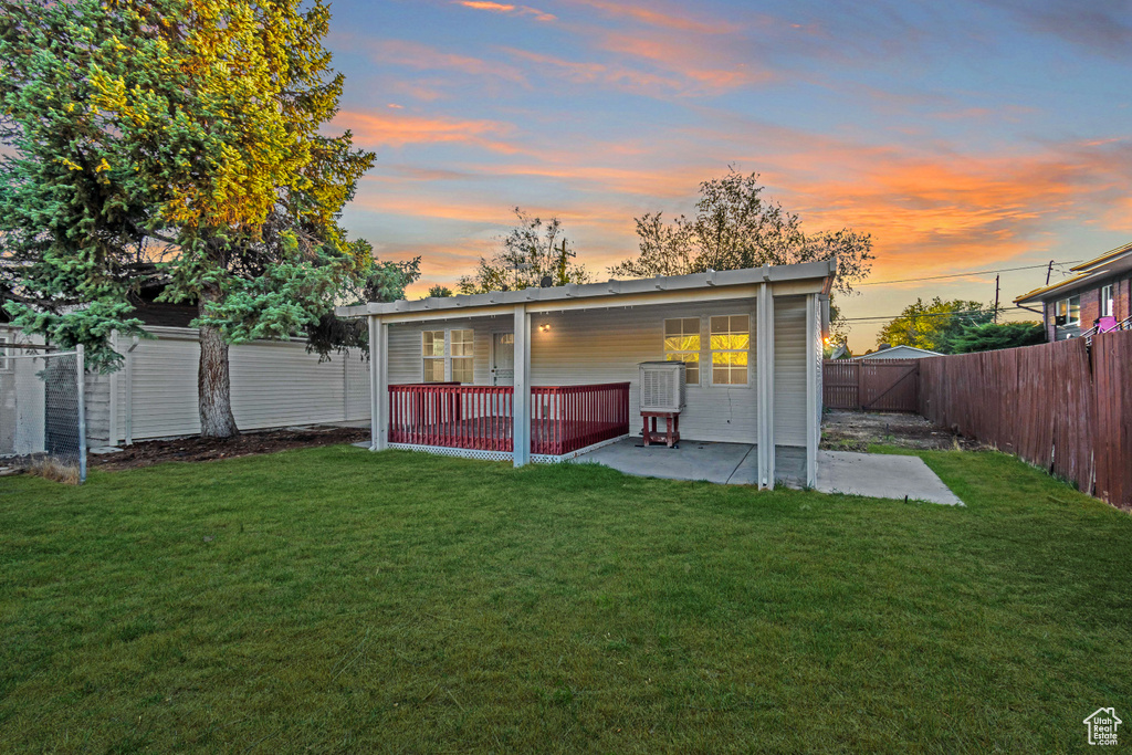
<svg viewBox="0 0 1132 755">
<path fill-rule="evenodd" d="M 919 411 L 918 359 L 848 359 L 822 364 L 822 400 L 830 409 Z"/>
</svg>

